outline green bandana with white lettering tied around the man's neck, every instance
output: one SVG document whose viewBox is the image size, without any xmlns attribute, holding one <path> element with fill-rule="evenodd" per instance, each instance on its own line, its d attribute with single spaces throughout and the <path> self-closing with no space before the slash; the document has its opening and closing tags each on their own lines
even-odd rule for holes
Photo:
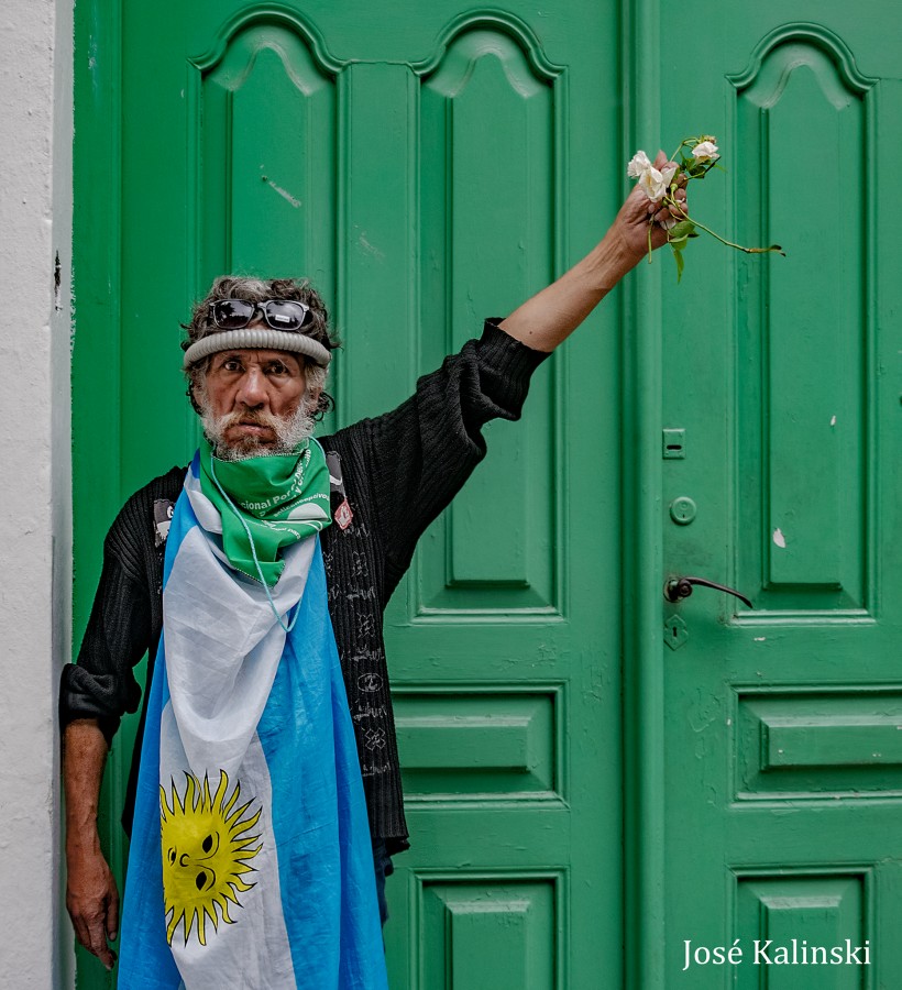
<svg viewBox="0 0 902 990">
<path fill-rule="evenodd" d="M 257 581 L 262 572 L 271 586 L 285 566 L 279 550 L 331 521 L 329 469 L 316 440 L 305 441 L 295 453 L 284 457 L 220 461 L 204 439 L 200 490 L 219 509 L 222 549 L 229 562 Z"/>
</svg>

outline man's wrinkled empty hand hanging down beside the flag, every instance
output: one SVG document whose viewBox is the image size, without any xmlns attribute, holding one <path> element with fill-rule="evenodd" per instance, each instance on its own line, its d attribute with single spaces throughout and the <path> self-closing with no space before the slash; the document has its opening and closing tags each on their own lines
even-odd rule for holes
<svg viewBox="0 0 902 990">
<path fill-rule="evenodd" d="M 81 945 L 112 969 L 116 954 L 107 939 L 119 934 L 119 891 L 101 853 L 68 856 L 66 909 Z"/>
</svg>

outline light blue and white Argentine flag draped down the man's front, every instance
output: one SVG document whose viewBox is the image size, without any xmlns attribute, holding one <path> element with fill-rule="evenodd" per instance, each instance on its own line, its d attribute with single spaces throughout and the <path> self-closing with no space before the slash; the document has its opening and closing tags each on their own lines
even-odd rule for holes
<svg viewBox="0 0 902 990">
<path fill-rule="evenodd" d="M 121 990 L 387 990 L 319 538 L 272 597 L 230 566 L 198 460 L 166 547 Z"/>
</svg>

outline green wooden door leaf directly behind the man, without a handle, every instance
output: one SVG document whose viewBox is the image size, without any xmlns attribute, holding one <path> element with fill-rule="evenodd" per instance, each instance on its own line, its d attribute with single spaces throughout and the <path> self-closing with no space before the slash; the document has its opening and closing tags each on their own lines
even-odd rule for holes
<svg viewBox="0 0 902 990">
<path fill-rule="evenodd" d="M 400 402 L 593 245 L 622 190 L 601 164 L 616 18 L 79 4 L 78 628 L 118 506 L 194 447 L 178 323 L 215 275 L 323 292 L 345 343 L 328 430 Z M 414 843 L 388 887 L 398 990 L 622 985 L 617 324 L 613 304 L 540 370 L 524 421 L 488 429 L 386 617 Z M 364 772 L 380 758 L 374 739 Z"/>
</svg>

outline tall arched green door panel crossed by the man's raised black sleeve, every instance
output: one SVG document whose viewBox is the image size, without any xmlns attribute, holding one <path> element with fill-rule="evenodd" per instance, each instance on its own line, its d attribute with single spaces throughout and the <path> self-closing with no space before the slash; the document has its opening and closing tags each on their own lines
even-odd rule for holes
<svg viewBox="0 0 902 990">
<path fill-rule="evenodd" d="M 443 331 L 424 369 L 554 277 L 562 74 L 502 26 L 464 30 L 420 81 L 420 312 Z M 420 553 L 420 615 L 560 614 L 552 387 L 536 381 L 522 426 L 490 426 L 491 459 Z"/>
</svg>

